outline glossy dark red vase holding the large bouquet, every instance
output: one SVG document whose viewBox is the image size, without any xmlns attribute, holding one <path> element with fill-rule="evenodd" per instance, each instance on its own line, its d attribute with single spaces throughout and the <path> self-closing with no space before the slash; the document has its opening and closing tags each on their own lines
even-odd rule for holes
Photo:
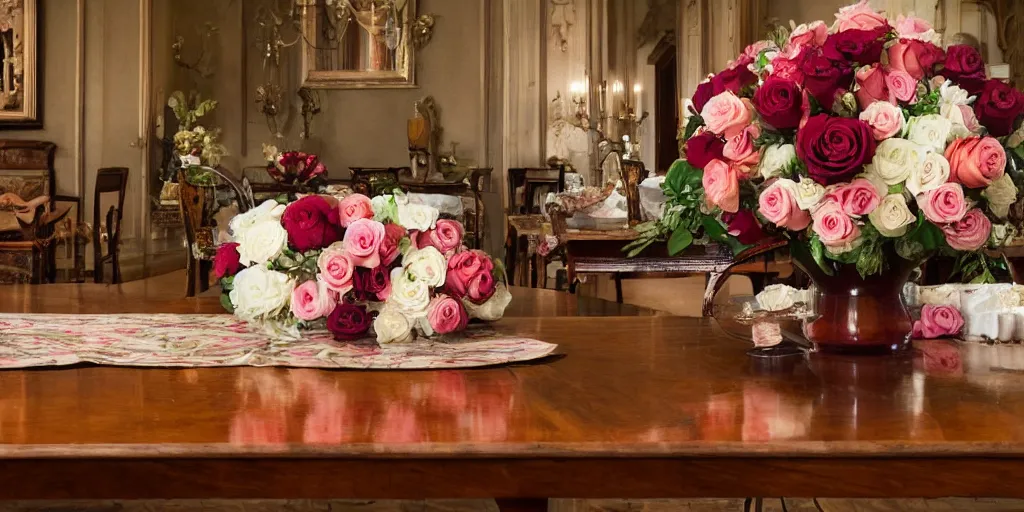
<svg viewBox="0 0 1024 512">
<path fill-rule="evenodd" d="M 881 273 L 861 278 L 856 265 L 836 265 L 828 275 L 806 244 L 791 244 L 794 263 L 814 283 L 813 315 L 804 336 L 818 352 L 887 354 L 909 346 L 913 319 L 903 302 L 903 286 L 922 261 L 889 249 Z"/>
</svg>

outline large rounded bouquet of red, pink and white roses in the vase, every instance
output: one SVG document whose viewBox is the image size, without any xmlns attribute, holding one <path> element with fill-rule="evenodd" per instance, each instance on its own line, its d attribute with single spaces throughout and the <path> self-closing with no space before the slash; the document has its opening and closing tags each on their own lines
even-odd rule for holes
<svg viewBox="0 0 1024 512">
<path fill-rule="evenodd" d="M 925 20 L 890 22 L 866 1 L 830 28 L 776 34 L 687 100 L 665 215 L 628 250 L 667 238 L 677 254 L 702 238 L 738 252 L 781 236 L 829 275 L 940 253 L 966 280 L 992 281 L 981 249 L 1017 232 L 1007 168 L 1024 157 L 1024 93 L 987 79 L 974 47 L 943 50 Z"/>
</svg>

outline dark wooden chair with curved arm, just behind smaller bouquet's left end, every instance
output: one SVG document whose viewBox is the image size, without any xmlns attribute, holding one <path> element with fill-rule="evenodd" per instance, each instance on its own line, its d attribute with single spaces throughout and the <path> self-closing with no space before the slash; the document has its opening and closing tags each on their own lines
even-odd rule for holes
<svg viewBox="0 0 1024 512">
<path fill-rule="evenodd" d="M 196 185 L 188 181 L 186 169 L 178 171 L 178 202 L 185 241 L 188 244 L 185 250 L 185 297 L 195 297 L 210 289 L 210 269 L 217 253 L 217 226 L 212 222 L 216 189 L 222 187 L 231 191 L 238 201 L 239 213 L 249 211 L 254 202 L 252 190 L 239 184 L 225 170 L 210 167 L 202 169 L 212 173 L 218 184 Z"/>
</svg>

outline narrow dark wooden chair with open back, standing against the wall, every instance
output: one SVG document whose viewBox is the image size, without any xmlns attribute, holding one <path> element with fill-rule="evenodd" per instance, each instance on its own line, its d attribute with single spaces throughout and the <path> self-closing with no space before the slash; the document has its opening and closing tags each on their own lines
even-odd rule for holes
<svg viewBox="0 0 1024 512">
<path fill-rule="evenodd" d="M 111 284 L 121 283 L 121 218 L 124 216 L 127 189 L 127 167 L 108 167 L 96 173 L 96 187 L 92 197 L 92 280 L 95 283 L 104 282 L 103 267 L 106 262 L 111 263 Z M 99 203 L 103 194 L 109 193 L 117 193 L 118 206 L 111 205 L 106 210 L 106 255 L 104 256 Z"/>
</svg>

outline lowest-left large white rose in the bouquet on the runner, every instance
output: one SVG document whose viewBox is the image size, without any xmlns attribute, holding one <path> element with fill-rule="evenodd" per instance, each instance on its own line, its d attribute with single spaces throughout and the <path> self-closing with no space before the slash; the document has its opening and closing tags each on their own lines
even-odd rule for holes
<svg viewBox="0 0 1024 512">
<path fill-rule="evenodd" d="M 244 268 L 234 275 L 228 298 L 234 315 L 252 322 L 270 318 L 288 307 L 295 283 L 287 274 L 264 266 Z"/>
</svg>

